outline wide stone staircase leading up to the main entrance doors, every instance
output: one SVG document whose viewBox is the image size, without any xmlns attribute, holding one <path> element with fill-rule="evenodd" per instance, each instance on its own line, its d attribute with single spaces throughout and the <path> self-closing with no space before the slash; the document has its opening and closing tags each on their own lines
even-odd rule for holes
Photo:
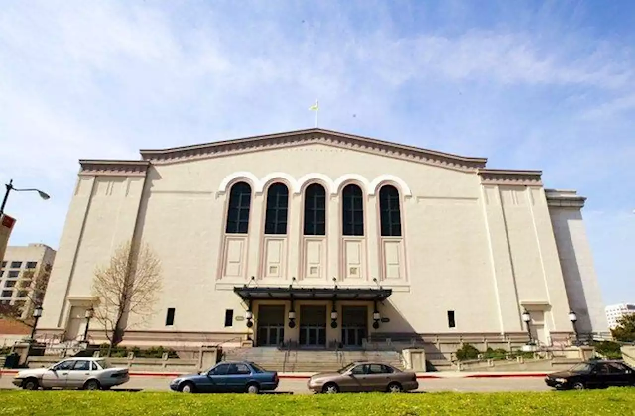
<svg viewBox="0 0 635 416">
<path fill-rule="evenodd" d="M 397 351 L 305 350 L 277 347 L 231 348 L 223 350 L 226 361 L 253 361 L 277 372 L 333 372 L 353 361 L 377 361 L 403 369 Z"/>
</svg>

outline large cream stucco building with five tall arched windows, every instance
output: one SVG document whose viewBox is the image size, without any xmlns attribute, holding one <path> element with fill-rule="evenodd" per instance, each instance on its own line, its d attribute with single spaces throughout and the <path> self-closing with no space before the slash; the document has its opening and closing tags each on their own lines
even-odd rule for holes
<svg viewBox="0 0 635 416">
<path fill-rule="evenodd" d="M 525 310 L 544 344 L 570 309 L 606 329 L 585 198 L 540 171 L 320 129 L 141 154 L 80 161 L 40 332 L 83 332 L 95 266 L 129 239 L 163 264 L 129 343 L 526 340 Z"/>
</svg>

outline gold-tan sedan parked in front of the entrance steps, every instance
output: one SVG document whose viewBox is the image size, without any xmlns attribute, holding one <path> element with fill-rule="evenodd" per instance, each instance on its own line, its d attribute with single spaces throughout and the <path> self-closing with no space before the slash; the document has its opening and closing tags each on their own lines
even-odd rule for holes
<svg viewBox="0 0 635 416">
<path fill-rule="evenodd" d="M 419 384 L 414 372 L 403 372 L 383 363 L 355 362 L 335 373 L 316 374 L 307 382 L 315 393 L 351 391 L 387 391 L 399 393 L 417 390 Z"/>
</svg>

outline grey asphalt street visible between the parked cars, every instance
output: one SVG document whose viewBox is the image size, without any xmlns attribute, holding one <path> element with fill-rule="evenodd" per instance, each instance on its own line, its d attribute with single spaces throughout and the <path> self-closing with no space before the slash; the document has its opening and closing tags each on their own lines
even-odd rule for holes
<svg viewBox="0 0 635 416">
<path fill-rule="evenodd" d="M 14 389 L 13 375 L 0 375 L 0 389 Z M 172 377 L 132 377 L 129 382 L 116 389 L 135 391 L 169 391 Z M 545 391 L 549 387 L 542 377 L 513 377 L 486 379 L 422 379 L 418 391 Z M 276 393 L 312 394 L 305 379 L 283 379 Z"/>
</svg>

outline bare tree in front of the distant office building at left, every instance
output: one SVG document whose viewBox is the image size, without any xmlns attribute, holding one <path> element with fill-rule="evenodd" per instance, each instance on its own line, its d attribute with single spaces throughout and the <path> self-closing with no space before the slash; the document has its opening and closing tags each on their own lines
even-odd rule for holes
<svg viewBox="0 0 635 416">
<path fill-rule="evenodd" d="M 50 264 L 23 271 L 16 285 L 18 298 L 0 305 L 0 318 L 14 319 L 33 328 L 33 310 L 42 304 L 50 277 Z"/>
</svg>

